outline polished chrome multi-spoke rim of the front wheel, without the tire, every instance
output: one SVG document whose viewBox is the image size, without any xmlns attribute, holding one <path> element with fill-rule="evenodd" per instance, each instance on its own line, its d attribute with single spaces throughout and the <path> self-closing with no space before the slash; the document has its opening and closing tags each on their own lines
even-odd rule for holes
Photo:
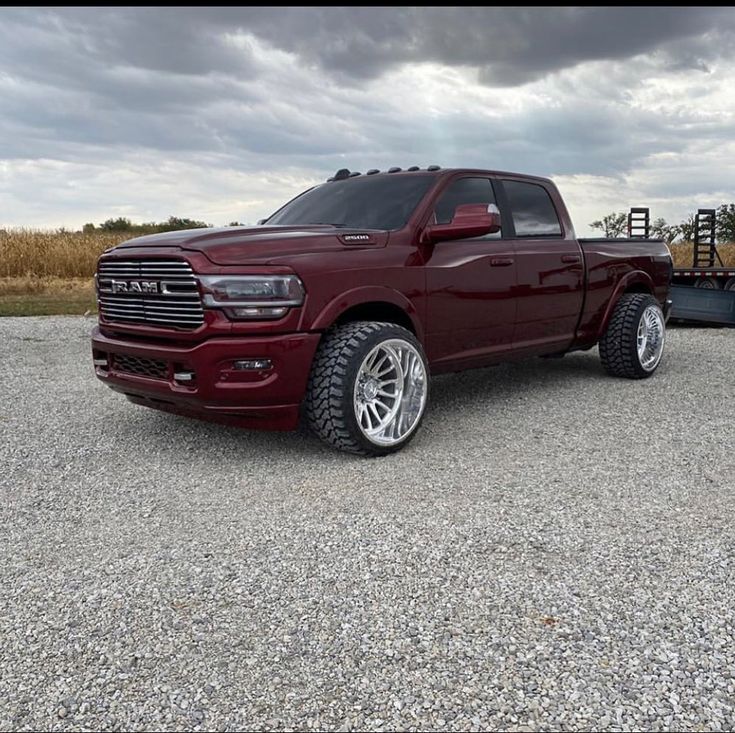
<svg viewBox="0 0 735 733">
<path fill-rule="evenodd" d="M 421 354 L 408 341 L 390 339 L 363 359 L 353 404 L 362 434 L 376 445 L 404 440 L 426 407 L 428 375 Z"/>
</svg>

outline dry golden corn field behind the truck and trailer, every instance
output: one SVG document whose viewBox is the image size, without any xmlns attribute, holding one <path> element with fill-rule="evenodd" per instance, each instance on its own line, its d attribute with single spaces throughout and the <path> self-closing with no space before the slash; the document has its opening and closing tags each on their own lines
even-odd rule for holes
<svg viewBox="0 0 735 733">
<path fill-rule="evenodd" d="M 125 232 L 0 231 L 0 278 L 18 279 L 29 287 L 34 280 L 91 278 L 99 255 L 130 236 Z M 725 266 L 735 267 L 735 244 L 722 245 L 719 250 Z M 676 266 L 691 266 L 690 244 L 671 245 L 671 254 Z"/>
</svg>

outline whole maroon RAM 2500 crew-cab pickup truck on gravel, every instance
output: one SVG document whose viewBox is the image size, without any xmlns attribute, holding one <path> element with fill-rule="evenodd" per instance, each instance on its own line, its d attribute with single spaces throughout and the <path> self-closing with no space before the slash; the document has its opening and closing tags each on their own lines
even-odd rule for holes
<svg viewBox="0 0 735 733">
<path fill-rule="evenodd" d="M 544 178 L 343 169 L 259 226 L 105 252 L 94 366 L 140 405 L 268 429 L 303 410 L 383 455 L 416 434 L 430 374 L 599 344 L 610 374 L 651 376 L 671 272 L 661 241 L 577 239 Z"/>
</svg>

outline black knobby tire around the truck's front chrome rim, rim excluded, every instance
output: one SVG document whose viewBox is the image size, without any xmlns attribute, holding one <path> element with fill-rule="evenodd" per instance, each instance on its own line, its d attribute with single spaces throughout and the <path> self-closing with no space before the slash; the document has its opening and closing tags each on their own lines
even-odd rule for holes
<svg viewBox="0 0 735 733">
<path fill-rule="evenodd" d="M 309 427 L 325 443 L 348 453 L 384 456 L 401 450 L 418 432 L 423 414 L 401 442 L 377 445 L 363 434 L 357 423 L 353 395 L 358 370 L 375 346 L 390 339 L 410 342 L 421 355 L 428 375 L 426 356 L 418 339 L 394 323 L 356 321 L 324 335 L 312 364 L 305 411 Z M 428 387 L 427 383 L 427 391 Z"/>
</svg>

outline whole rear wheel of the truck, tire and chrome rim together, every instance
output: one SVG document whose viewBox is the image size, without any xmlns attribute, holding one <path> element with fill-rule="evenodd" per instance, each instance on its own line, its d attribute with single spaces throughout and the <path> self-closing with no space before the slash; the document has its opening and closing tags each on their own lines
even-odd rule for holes
<svg viewBox="0 0 735 733">
<path fill-rule="evenodd" d="M 615 306 L 600 339 L 600 359 L 608 374 L 645 379 L 661 362 L 665 341 L 664 314 L 656 299 L 627 293 Z"/>
</svg>

